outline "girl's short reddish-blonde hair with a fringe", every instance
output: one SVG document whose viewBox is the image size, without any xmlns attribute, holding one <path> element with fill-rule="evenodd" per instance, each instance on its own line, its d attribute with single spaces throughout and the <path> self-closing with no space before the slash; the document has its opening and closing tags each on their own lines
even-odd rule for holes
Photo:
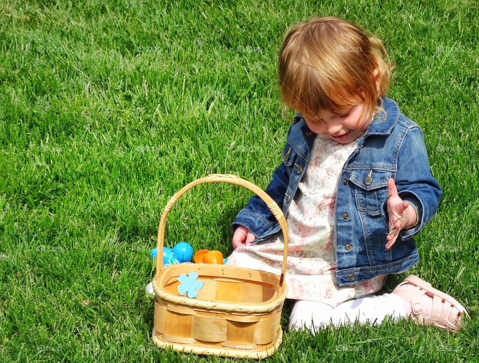
<svg viewBox="0 0 479 363">
<path fill-rule="evenodd" d="M 340 115 L 364 102 L 369 119 L 382 109 L 378 101 L 389 87 L 393 67 L 381 40 L 347 20 L 327 16 L 295 24 L 279 52 L 283 111 L 289 107 L 303 116 L 316 117 L 320 110 Z"/>
</svg>

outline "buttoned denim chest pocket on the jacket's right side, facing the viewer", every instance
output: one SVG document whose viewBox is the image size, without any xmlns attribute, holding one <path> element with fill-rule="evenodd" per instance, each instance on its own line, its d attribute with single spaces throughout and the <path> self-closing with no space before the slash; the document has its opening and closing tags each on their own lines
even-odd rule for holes
<svg viewBox="0 0 479 363">
<path fill-rule="evenodd" d="M 369 215 L 381 214 L 381 206 L 388 197 L 388 180 L 392 173 L 384 170 L 353 170 L 354 198 L 358 210 Z"/>
</svg>

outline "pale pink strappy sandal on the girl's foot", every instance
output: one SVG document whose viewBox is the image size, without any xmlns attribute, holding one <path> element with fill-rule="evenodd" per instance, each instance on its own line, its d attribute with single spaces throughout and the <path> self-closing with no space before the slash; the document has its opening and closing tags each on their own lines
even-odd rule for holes
<svg viewBox="0 0 479 363">
<path fill-rule="evenodd" d="M 400 290 L 404 284 L 416 286 L 414 290 Z M 409 275 L 393 290 L 393 294 L 405 298 L 412 308 L 411 317 L 418 324 L 434 325 L 449 332 L 457 332 L 463 324 L 463 314 L 469 318 L 466 309 L 448 294 L 445 294 L 431 286 L 430 283 L 415 275 Z M 433 298 L 433 308 L 430 317 L 422 315 L 421 297 L 427 294 Z"/>
</svg>

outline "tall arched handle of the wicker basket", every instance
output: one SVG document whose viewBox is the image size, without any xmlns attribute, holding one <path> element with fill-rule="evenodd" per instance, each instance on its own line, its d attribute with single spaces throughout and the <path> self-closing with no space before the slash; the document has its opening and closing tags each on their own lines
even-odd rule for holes
<svg viewBox="0 0 479 363">
<path fill-rule="evenodd" d="M 157 282 L 160 283 L 160 276 L 163 274 L 163 242 L 165 238 L 165 224 L 166 217 L 173 207 L 176 204 L 180 196 L 185 193 L 188 189 L 191 189 L 193 186 L 202 184 L 202 183 L 212 183 L 212 182 L 226 182 L 235 185 L 241 185 L 245 188 L 251 190 L 253 193 L 257 194 L 268 206 L 273 213 L 274 217 L 278 220 L 281 230 L 284 237 L 284 250 L 283 250 L 283 261 L 281 264 L 281 276 L 279 278 L 279 286 L 282 287 L 284 283 L 284 274 L 286 272 L 286 260 L 288 256 L 288 225 L 286 223 L 286 218 L 284 218 L 283 212 L 276 204 L 276 202 L 261 188 L 254 185 L 249 181 L 245 181 L 240 177 L 231 175 L 231 174 L 211 174 L 205 178 L 197 179 L 192 181 L 188 185 L 185 185 L 179 191 L 177 191 L 171 199 L 166 203 L 165 209 L 160 220 L 160 226 L 158 227 L 158 253 L 156 259 L 156 271 L 157 271 Z"/>
</svg>

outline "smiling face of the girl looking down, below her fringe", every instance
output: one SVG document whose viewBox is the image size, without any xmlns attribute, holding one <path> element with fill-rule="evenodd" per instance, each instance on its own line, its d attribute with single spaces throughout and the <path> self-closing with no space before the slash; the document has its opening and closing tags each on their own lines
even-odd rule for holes
<svg viewBox="0 0 479 363">
<path fill-rule="evenodd" d="M 315 134 L 325 136 L 340 144 L 349 144 L 363 135 L 371 123 L 371 120 L 367 120 L 366 112 L 362 114 L 363 109 L 364 104 L 359 103 L 345 110 L 342 115 L 335 115 L 323 110 L 316 118 L 307 116 L 303 116 L 303 118 L 309 129 Z"/>
</svg>

